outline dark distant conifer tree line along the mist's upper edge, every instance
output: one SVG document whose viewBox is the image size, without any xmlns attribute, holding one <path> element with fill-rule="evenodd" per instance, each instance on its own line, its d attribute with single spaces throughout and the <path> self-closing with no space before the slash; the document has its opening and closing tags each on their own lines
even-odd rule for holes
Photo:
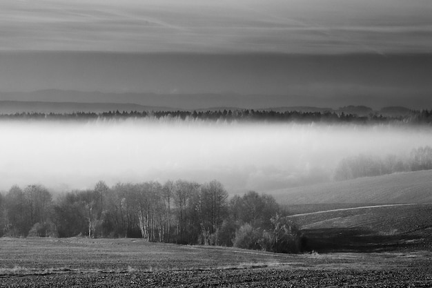
<svg viewBox="0 0 432 288">
<path fill-rule="evenodd" d="M 218 110 L 218 111 L 108 111 L 104 113 L 14 113 L 2 114 L 0 119 L 53 119 L 53 120 L 89 120 L 89 119 L 199 119 L 206 121 L 243 122 L 301 122 L 301 123 L 353 123 L 353 124 L 431 124 L 432 110 L 411 111 L 409 114 L 392 116 L 381 113 L 356 115 L 335 111 L 267 111 L 254 109 Z"/>
</svg>

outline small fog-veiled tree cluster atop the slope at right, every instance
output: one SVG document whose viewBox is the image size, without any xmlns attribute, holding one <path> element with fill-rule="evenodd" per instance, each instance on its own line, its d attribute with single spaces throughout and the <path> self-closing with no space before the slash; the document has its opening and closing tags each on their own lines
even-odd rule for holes
<svg viewBox="0 0 432 288">
<path fill-rule="evenodd" d="M 432 147 L 413 148 L 408 157 L 389 154 L 385 157 L 357 155 L 344 158 L 335 169 L 335 180 L 386 175 L 432 169 Z"/>
</svg>

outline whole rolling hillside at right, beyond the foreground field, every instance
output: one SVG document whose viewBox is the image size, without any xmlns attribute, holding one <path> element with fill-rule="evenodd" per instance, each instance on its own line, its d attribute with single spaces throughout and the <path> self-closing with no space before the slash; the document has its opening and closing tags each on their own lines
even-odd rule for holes
<svg viewBox="0 0 432 288">
<path fill-rule="evenodd" d="M 302 186 L 273 196 L 286 204 L 309 251 L 432 247 L 432 171 Z"/>
</svg>

